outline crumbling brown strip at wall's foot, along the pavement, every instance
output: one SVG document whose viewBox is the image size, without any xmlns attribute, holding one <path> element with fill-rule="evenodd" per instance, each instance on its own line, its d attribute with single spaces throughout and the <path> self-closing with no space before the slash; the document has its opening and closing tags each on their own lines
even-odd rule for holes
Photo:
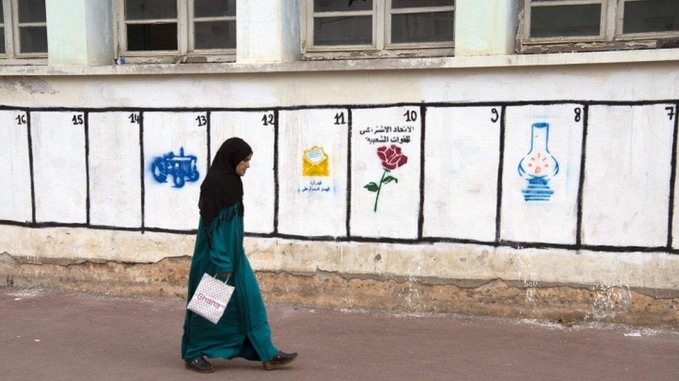
<svg viewBox="0 0 679 381">
<path fill-rule="evenodd" d="M 186 295 L 190 257 L 157 263 L 0 255 L 0 287 L 58 287 L 120 295 Z M 449 312 L 550 319 L 679 323 L 679 295 L 655 289 L 511 280 L 258 271 L 268 302 L 404 312 Z"/>
</svg>

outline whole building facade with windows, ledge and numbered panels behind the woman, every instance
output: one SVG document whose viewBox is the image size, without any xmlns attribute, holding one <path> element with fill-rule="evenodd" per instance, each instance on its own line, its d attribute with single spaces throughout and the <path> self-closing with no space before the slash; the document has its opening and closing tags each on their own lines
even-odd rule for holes
<svg viewBox="0 0 679 381">
<path fill-rule="evenodd" d="M 679 320 L 675 1 L 2 5 L 6 285 L 184 294 L 236 135 L 271 302 Z"/>
</svg>

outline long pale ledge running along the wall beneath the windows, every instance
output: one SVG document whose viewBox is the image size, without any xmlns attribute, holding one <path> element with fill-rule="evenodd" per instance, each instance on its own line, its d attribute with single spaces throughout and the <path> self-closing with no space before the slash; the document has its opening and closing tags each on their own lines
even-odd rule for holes
<svg viewBox="0 0 679 381">
<path fill-rule="evenodd" d="M 612 63 L 679 61 L 678 49 L 597 51 L 510 56 L 438 58 L 389 58 L 374 60 L 326 60 L 256 63 L 125 64 L 106 66 L 1 66 L 0 76 L 110 76 L 141 74 L 285 73 L 298 71 L 359 71 L 405 69 L 463 69 L 484 67 L 533 67 L 601 65 Z"/>
</svg>

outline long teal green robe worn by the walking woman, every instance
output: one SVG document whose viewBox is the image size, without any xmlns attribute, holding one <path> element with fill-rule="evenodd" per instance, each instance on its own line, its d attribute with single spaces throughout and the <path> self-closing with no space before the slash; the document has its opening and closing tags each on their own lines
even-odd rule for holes
<svg viewBox="0 0 679 381">
<path fill-rule="evenodd" d="M 207 228 L 211 246 L 202 220 L 198 225 L 189 273 L 189 300 L 204 273 L 232 273 L 227 284 L 236 289 L 216 324 L 186 310 L 182 358 L 187 361 L 206 356 L 266 362 L 278 353 L 271 344 L 271 328 L 257 278 L 243 249 L 243 217 L 238 211 L 237 203 L 228 206 L 210 222 Z"/>
</svg>

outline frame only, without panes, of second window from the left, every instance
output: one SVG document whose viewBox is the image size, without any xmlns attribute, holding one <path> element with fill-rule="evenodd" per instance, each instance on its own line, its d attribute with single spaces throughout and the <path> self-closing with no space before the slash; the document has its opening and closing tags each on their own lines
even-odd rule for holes
<svg viewBox="0 0 679 381">
<path fill-rule="evenodd" d="M 182 63 L 182 62 L 234 62 L 236 49 L 195 49 L 195 19 L 201 21 L 236 21 L 236 16 L 194 17 L 194 0 L 177 1 L 176 19 L 125 19 L 125 0 L 115 0 L 115 57 L 126 63 Z M 236 5 L 238 9 L 238 3 Z M 237 11 L 238 12 L 238 11 Z M 177 50 L 130 51 L 127 49 L 127 24 L 177 23 Z M 120 62 L 120 60 L 118 61 Z"/>
</svg>

